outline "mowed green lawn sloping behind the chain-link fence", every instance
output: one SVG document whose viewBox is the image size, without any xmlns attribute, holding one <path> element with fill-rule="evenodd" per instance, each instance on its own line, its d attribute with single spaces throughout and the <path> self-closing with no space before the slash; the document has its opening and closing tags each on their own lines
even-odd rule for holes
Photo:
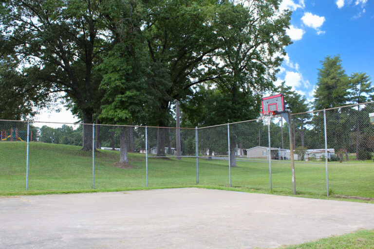
<svg viewBox="0 0 374 249">
<path fill-rule="evenodd" d="M 30 143 L 29 192 L 87 191 L 92 189 L 92 152 L 73 145 Z M 145 154 L 129 153 L 129 165 L 120 165 L 119 152 L 95 151 L 95 189 L 98 191 L 146 187 Z M 196 159 L 148 159 L 149 187 L 197 186 Z M 298 194 L 326 195 L 324 162 L 295 164 Z M 199 159 L 199 186 L 228 187 L 228 161 Z M 372 161 L 329 162 L 332 196 L 374 197 Z M 269 163 L 246 159 L 231 167 L 231 186 L 270 192 Z M 25 194 L 26 143 L 0 142 L 0 195 Z M 291 194 L 289 162 L 272 162 L 272 192 Z"/>
</svg>

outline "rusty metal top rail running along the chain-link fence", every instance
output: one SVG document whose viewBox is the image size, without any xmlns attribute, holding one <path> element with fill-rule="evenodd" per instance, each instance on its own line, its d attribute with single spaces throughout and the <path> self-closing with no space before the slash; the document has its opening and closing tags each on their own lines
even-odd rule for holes
<svg viewBox="0 0 374 249">
<path fill-rule="evenodd" d="M 320 109 L 320 110 L 312 110 L 312 111 L 306 111 L 306 112 L 299 112 L 299 113 L 291 113 L 291 115 L 300 115 L 300 114 L 306 114 L 306 113 L 315 113 L 315 112 L 321 112 L 321 111 L 327 111 L 327 110 L 334 110 L 334 109 L 340 109 L 345 107 L 355 107 L 360 105 L 367 105 L 372 104 L 374 101 L 364 102 L 364 103 L 357 103 L 347 106 L 341 106 L 341 107 L 332 107 L 327 109 Z M 274 117 L 280 117 L 280 115 L 276 115 Z M 204 126 L 204 127 L 198 127 L 198 129 L 204 129 L 204 128 L 210 128 L 210 127 L 217 127 L 217 126 L 223 126 L 223 125 L 233 125 L 233 124 L 239 124 L 239 123 L 245 123 L 245 122 L 251 122 L 251 121 L 260 121 L 261 119 L 251 119 L 251 120 L 244 120 L 239 122 L 233 122 L 233 123 L 226 123 L 221 125 L 210 125 L 210 126 Z M 34 120 L 8 120 L 8 119 L 0 119 L 0 122 L 23 122 L 23 123 L 46 123 L 46 124 L 61 124 L 61 125 L 93 125 L 88 123 L 66 123 L 66 122 L 46 122 L 46 121 L 34 121 Z M 191 129 L 194 130 L 195 128 L 189 128 L 189 127 L 168 127 L 168 126 L 147 126 L 147 125 L 107 125 L 107 124 L 95 124 L 95 125 L 103 125 L 103 126 L 120 126 L 120 127 L 150 127 L 150 128 L 171 128 L 171 129 Z"/>
</svg>

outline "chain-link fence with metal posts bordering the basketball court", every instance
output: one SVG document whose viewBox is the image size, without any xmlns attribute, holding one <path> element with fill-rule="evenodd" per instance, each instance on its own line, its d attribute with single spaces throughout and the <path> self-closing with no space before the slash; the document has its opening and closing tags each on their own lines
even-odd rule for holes
<svg viewBox="0 0 374 249">
<path fill-rule="evenodd" d="M 3 120 L 0 193 L 196 184 L 292 193 L 290 130 L 297 193 L 373 198 L 370 113 L 374 103 L 292 114 L 291 127 L 280 116 L 269 127 L 200 128 Z"/>
</svg>

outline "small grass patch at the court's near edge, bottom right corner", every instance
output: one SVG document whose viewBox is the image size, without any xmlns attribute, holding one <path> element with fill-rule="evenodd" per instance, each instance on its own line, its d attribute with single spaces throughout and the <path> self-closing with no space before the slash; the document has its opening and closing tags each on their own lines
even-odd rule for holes
<svg viewBox="0 0 374 249">
<path fill-rule="evenodd" d="M 341 236 L 332 236 L 280 249 L 373 249 L 374 230 L 359 230 Z"/>
</svg>

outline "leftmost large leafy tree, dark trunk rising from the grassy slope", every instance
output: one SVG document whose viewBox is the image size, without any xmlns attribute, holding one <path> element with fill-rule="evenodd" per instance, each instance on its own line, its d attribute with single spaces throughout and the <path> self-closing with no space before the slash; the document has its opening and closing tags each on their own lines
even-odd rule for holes
<svg viewBox="0 0 374 249">
<path fill-rule="evenodd" d="M 29 89 L 44 96 L 62 92 L 84 123 L 92 123 L 102 92 L 97 71 L 100 54 L 115 40 L 110 18 L 119 1 L 6 0 L 1 4 L 2 56 L 19 60 Z M 84 129 L 83 149 L 92 147 L 92 129 Z"/>
</svg>

